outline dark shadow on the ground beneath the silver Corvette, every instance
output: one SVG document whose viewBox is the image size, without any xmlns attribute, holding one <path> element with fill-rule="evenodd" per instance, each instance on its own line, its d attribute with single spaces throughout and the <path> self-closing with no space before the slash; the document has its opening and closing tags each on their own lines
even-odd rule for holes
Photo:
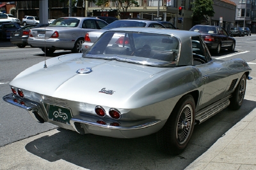
<svg viewBox="0 0 256 170">
<path fill-rule="evenodd" d="M 87 169 L 184 169 L 211 147 L 225 132 L 244 118 L 255 101 L 244 100 L 232 111 L 226 108 L 214 117 L 195 126 L 188 148 L 178 156 L 169 156 L 157 149 L 156 136 L 134 139 L 108 138 L 93 134 L 80 135 L 59 128 L 52 136 L 38 138 L 26 145 L 28 152 L 54 162 L 65 160 Z"/>
</svg>

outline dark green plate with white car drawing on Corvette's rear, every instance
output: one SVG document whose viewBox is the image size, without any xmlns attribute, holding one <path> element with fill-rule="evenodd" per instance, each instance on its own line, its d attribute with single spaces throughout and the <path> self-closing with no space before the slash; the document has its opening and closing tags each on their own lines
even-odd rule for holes
<svg viewBox="0 0 256 170">
<path fill-rule="evenodd" d="M 49 104 L 48 117 L 56 122 L 70 124 L 69 120 L 72 117 L 70 108 L 63 108 Z"/>
</svg>

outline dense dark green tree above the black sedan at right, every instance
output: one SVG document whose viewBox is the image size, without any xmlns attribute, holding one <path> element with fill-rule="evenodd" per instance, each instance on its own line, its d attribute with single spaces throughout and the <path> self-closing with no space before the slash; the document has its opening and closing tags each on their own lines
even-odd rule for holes
<svg viewBox="0 0 256 170">
<path fill-rule="evenodd" d="M 208 17 L 214 16 L 214 9 L 213 9 L 213 1 L 212 0 L 195 0 L 192 8 L 192 16 L 194 20 L 197 20 L 199 24 L 201 21 L 204 20 L 204 17 L 208 19 Z"/>
</svg>

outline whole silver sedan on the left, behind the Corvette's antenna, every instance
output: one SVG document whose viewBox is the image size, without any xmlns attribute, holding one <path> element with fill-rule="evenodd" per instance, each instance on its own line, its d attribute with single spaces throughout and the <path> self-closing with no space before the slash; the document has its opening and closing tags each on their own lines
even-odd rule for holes
<svg viewBox="0 0 256 170">
<path fill-rule="evenodd" d="M 48 27 L 31 29 L 28 44 L 41 48 L 45 53 L 55 50 L 82 52 L 84 36 L 88 31 L 95 31 L 108 25 L 107 22 L 90 17 L 61 17 Z"/>
</svg>

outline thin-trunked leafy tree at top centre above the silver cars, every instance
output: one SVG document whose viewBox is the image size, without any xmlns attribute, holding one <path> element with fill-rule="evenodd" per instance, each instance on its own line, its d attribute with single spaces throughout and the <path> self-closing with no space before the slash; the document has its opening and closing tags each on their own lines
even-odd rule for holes
<svg viewBox="0 0 256 170">
<path fill-rule="evenodd" d="M 95 0 L 89 0 L 93 3 L 95 3 Z M 115 3 L 115 7 L 117 10 L 117 15 L 119 18 L 124 19 L 125 16 L 127 16 L 127 10 L 132 5 L 138 7 L 140 6 L 139 3 L 136 0 L 98 0 L 95 4 L 97 6 L 105 6 L 108 3 Z M 114 10 L 112 7 L 109 7 L 111 10 Z"/>
</svg>

